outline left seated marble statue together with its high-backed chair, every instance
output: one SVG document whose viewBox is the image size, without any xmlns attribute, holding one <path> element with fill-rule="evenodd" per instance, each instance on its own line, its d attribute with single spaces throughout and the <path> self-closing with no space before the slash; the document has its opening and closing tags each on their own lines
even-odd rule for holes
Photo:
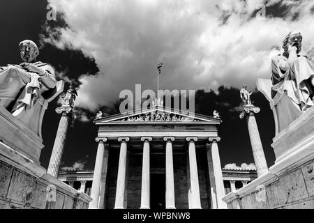
<svg viewBox="0 0 314 223">
<path fill-rule="evenodd" d="M 0 105 L 12 113 L 13 120 L 20 120 L 41 137 L 45 110 L 63 91 L 64 82 L 57 82 L 47 63 L 36 62 L 39 50 L 33 41 L 24 40 L 19 46 L 24 62 L 0 67 Z"/>
</svg>

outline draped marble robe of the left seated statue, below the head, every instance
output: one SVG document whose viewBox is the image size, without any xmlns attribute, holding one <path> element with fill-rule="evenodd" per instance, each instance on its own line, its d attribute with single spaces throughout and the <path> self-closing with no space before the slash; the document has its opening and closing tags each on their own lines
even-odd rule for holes
<svg viewBox="0 0 314 223">
<path fill-rule="evenodd" d="M 51 66 L 40 61 L 33 64 L 45 70 L 43 75 L 29 72 L 20 66 L 0 68 L 0 99 L 17 99 L 12 112 L 20 107 L 31 109 L 39 94 L 56 86 L 57 81 Z"/>
</svg>

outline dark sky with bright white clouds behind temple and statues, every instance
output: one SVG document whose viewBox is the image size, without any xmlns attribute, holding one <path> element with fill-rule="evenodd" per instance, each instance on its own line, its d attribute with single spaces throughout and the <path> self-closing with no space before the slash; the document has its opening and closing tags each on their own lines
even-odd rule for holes
<svg viewBox="0 0 314 223">
<path fill-rule="evenodd" d="M 57 20 L 47 20 L 54 15 L 51 6 Z M 239 88 L 255 89 L 257 78 L 271 77 L 271 56 L 289 31 L 301 31 L 303 53 L 314 57 L 312 0 L 5 0 L 0 8 L 6 12 L 0 13 L 0 66 L 20 63 L 17 45 L 31 39 L 40 45 L 38 60 L 77 88 L 78 118 L 68 130 L 63 167 L 94 168 L 97 130 L 91 118 L 98 109 L 119 112 L 113 105 L 121 90 L 135 84 L 156 89 L 161 61 L 160 89 L 193 89 L 197 112 L 220 112 L 223 167 L 251 164 L 246 122 L 238 118 Z M 256 118 L 270 166 L 274 118 L 262 94 L 255 91 L 252 98 L 261 107 Z M 50 103 L 43 121 L 44 167 L 60 118 L 57 106 L 57 100 Z"/>
</svg>

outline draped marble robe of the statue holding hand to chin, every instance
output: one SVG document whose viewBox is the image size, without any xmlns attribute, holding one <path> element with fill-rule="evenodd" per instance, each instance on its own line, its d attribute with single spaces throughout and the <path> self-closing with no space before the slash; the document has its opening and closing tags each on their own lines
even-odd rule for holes
<svg viewBox="0 0 314 223">
<path fill-rule="evenodd" d="M 287 93 L 287 96 L 297 105 L 301 111 L 306 111 L 313 106 L 311 95 L 313 86 L 310 78 L 314 75 L 314 65 L 305 56 L 299 56 L 286 71 L 281 70 L 279 63 L 281 60 L 287 61 L 283 55 L 275 56 L 271 61 L 271 81 L 273 87 L 271 97 L 274 98 L 276 92 Z"/>
</svg>

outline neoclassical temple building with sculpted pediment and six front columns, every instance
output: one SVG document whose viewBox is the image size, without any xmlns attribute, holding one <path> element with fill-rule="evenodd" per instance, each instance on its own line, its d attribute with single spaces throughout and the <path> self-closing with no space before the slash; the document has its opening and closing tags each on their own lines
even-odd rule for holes
<svg viewBox="0 0 314 223">
<path fill-rule="evenodd" d="M 76 180 L 73 186 L 85 192 L 91 188 L 89 208 L 226 208 L 220 122 L 158 105 L 98 116 L 94 172 L 61 173 L 59 178 L 70 184 Z"/>
</svg>

